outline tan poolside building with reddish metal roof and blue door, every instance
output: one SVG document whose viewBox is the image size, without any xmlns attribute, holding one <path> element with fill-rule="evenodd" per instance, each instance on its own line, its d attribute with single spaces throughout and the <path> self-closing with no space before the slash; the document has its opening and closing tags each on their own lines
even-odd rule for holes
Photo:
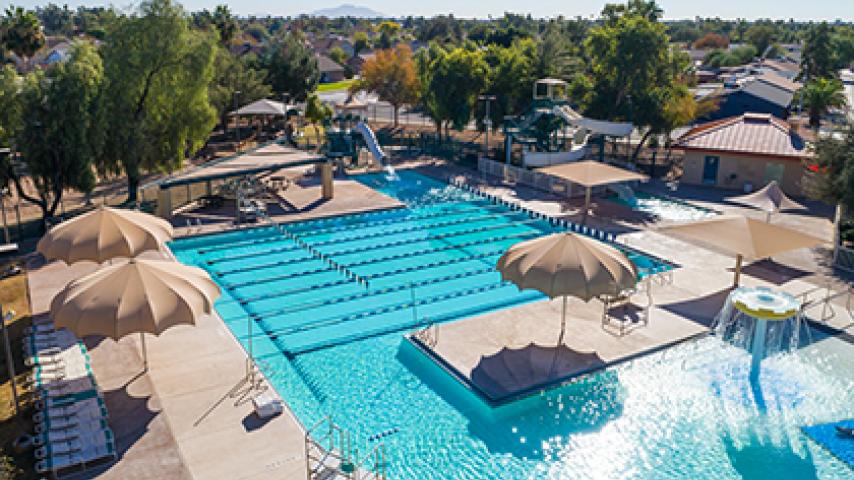
<svg viewBox="0 0 854 480">
<path fill-rule="evenodd" d="M 685 151 L 682 182 L 751 191 L 772 180 L 802 195 L 804 139 L 784 120 L 745 113 L 698 125 L 676 142 Z"/>
</svg>

